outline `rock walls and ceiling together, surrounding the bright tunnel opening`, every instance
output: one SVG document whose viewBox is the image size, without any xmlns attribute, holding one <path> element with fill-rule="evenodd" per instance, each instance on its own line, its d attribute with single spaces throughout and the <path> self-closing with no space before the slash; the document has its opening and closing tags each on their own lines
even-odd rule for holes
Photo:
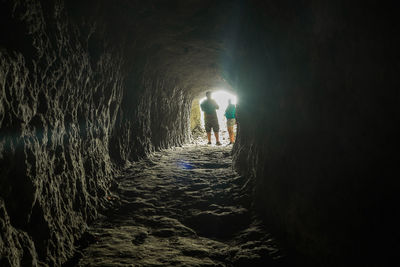
<svg viewBox="0 0 400 267">
<path fill-rule="evenodd" d="M 395 10 L 1 1 L 0 265 L 65 262 L 112 176 L 189 141 L 192 100 L 221 86 L 239 97 L 235 166 L 288 247 L 385 265 L 400 236 Z"/>
</svg>

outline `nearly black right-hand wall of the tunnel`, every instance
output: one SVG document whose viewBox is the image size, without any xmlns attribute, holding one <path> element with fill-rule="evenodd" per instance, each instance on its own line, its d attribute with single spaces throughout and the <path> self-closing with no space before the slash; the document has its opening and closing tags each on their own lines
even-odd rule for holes
<svg viewBox="0 0 400 267">
<path fill-rule="evenodd" d="M 223 73 L 238 93 L 235 166 L 255 207 L 308 265 L 388 264 L 399 238 L 394 7 L 253 4 Z"/>
</svg>

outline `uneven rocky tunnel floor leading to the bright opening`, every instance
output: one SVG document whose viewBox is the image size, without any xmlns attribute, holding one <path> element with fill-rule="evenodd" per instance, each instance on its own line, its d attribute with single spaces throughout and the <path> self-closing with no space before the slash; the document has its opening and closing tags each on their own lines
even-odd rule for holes
<svg viewBox="0 0 400 267">
<path fill-rule="evenodd" d="M 135 162 L 118 179 L 118 207 L 88 230 L 75 266 L 282 266 L 249 209 L 231 146 L 188 145 Z"/>
</svg>

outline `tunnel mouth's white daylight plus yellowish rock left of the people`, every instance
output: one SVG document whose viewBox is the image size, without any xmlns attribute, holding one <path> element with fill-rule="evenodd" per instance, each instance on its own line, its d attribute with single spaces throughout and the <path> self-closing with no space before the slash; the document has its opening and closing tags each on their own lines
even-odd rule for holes
<svg viewBox="0 0 400 267">
<path fill-rule="evenodd" d="M 194 99 L 192 103 L 192 110 L 190 113 L 190 128 L 192 132 L 192 139 L 193 142 L 199 144 L 207 143 L 206 131 L 204 128 L 204 113 L 201 111 L 200 108 L 200 104 L 205 99 L 205 93 Z M 229 133 L 227 128 L 227 120 L 224 114 L 226 108 L 228 107 L 229 100 L 231 100 L 232 104 L 237 104 L 237 96 L 224 90 L 216 90 L 212 91 L 212 99 L 214 99 L 219 106 L 219 109 L 217 109 L 217 118 L 220 128 L 220 141 L 223 145 L 227 145 L 229 144 Z M 234 133 L 236 135 L 236 125 L 234 126 Z M 214 144 L 214 135 L 211 136 L 211 140 Z"/>
</svg>

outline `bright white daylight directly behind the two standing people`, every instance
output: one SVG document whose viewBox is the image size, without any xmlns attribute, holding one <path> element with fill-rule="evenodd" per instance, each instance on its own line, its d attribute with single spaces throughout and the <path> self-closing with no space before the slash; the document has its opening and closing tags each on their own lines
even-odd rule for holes
<svg viewBox="0 0 400 267">
<path fill-rule="evenodd" d="M 232 104 L 236 105 L 237 104 L 237 98 L 235 95 L 228 93 L 223 90 L 219 91 L 213 91 L 211 98 L 214 99 L 218 106 L 219 109 L 217 109 L 217 117 L 218 117 L 218 123 L 219 123 L 219 134 L 220 134 L 220 141 L 221 143 L 229 143 L 229 134 L 228 134 L 228 128 L 226 125 L 226 118 L 224 116 L 225 110 L 228 107 L 228 100 L 230 99 L 232 101 Z M 203 102 L 206 100 L 206 97 L 200 99 L 199 103 Z M 200 114 L 200 119 L 201 119 L 201 125 L 204 129 L 204 113 L 201 112 Z M 236 126 L 234 127 L 235 133 L 236 133 Z M 206 137 L 204 137 L 206 139 Z M 212 135 L 212 140 L 213 143 L 215 143 L 215 138 L 214 134 Z"/>
</svg>

